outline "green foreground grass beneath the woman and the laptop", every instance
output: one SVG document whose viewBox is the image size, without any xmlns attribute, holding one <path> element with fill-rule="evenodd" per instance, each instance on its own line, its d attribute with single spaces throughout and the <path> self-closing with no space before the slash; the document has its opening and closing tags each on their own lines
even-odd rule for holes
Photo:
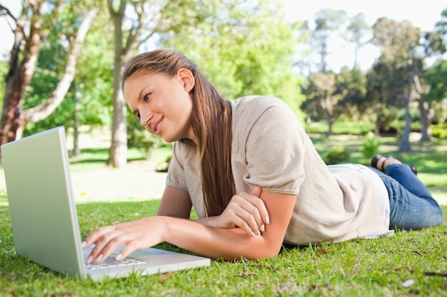
<svg viewBox="0 0 447 297">
<path fill-rule="evenodd" d="M 80 204 L 81 234 L 155 214 L 158 205 L 159 200 Z M 447 207 L 443 212 L 447 215 Z M 446 225 L 380 239 L 284 247 L 274 259 L 216 260 L 205 268 L 101 283 L 69 278 L 17 256 L 8 207 L 0 207 L 0 228 L 0 296 L 445 296 L 447 290 L 441 274 L 447 273 Z M 408 280 L 414 284 L 406 288 Z"/>
</svg>

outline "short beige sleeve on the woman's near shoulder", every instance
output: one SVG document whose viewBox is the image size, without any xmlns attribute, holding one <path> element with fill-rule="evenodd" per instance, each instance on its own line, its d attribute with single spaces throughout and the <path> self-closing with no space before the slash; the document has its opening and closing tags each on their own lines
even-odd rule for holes
<svg viewBox="0 0 447 297">
<path fill-rule="evenodd" d="M 258 185 L 268 192 L 298 194 L 305 149 L 304 131 L 295 113 L 282 100 L 269 97 L 255 99 L 239 111 L 233 133 L 238 138 L 233 175 L 249 188 Z"/>
</svg>

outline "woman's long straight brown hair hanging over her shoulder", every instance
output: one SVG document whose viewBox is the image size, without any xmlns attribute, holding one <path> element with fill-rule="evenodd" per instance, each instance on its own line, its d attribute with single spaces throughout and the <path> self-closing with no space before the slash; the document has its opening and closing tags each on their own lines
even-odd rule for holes
<svg viewBox="0 0 447 297">
<path fill-rule="evenodd" d="M 174 76 L 180 68 L 186 68 L 194 75 L 195 85 L 190 92 L 193 102 L 191 125 L 199 140 L 206 212 L 210 217 L 216 216 L 224 212 L 236 194 L 231 171 L 230 103 L 221 98 L 196 64 L 178 51 L 162 49 L 132 58 L 124 68 L 123 84 L 136 72 Z"/>
</svg>

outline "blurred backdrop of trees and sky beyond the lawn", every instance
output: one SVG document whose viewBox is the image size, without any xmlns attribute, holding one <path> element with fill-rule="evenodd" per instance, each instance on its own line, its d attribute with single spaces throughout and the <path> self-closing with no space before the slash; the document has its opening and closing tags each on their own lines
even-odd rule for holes
<svg viewBox="0 0 447 297">
<path fill-rule="evenodd" d="M 0 34 L 0 145 L 64 125 L 75 174 L 166 171 L 170 144 L 121 93 L 126 62 L 155 48 L 184 52 L 224 98 L 274 95 L 311 135 L 357 135 L 365 160 L 378 137 L 402 153 L 447 139 L 442 1 L 3 0 Z"/>
</svg>

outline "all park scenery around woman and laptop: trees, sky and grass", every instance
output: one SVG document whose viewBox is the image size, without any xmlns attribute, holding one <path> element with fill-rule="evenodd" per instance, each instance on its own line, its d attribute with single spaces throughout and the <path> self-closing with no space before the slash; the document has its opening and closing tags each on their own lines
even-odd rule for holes
<svg viewBox="0 0 447 297">
<path fill-rule="evenodd" d="M 440 2 L 0 1 L 0 142 L 66 127 L 84 236 L 101 224 L 154 214 L 171 145 L 149 135 L 130 115 L 120 77 L 126 61 L 137 53 L 174 48 L 198 63 L 224 98 L 262 94 L 286 101 L 328 163 L 368 165 L 376 153 L 413 163 L 446 213 L 447 6 Z M 76 291 L 71 288 L 75 281 L 39 266 L 27 268 L 12 248 L 7 205 L 1 174 L 0 293 L 82 296 L 90 292 L 89 286 L 94 295 L 105 290 L 114 296 L 92 283 Z M 99 213 L 99 219 L 91 219 Z M 229 266 L 217 261 L 219 267 L 213 269 L 219 272 L 210 271 L 209 278 L 204 271 L 194 275 L 221 280 L 206 295 L 442 296 L 447 256 L 441 243 L 446 238 L 441 226 L 362 243 L 360 248 L 346 243 L 290 251 L 291 256 L 278 262 Z M 409 241 L 420 245 L 408 246 Z M 400 244 L 409 254 L 396 252 Z M 338 249 L 346 251 L 334 256 Z M 365 257 L 384 249 L 386 255 Z M 342 261 L 349 253 L 356 254 L 355 265 Z M 420 259 L 414 260 L 413 254 Z M 287 269 L 285 274 L 279 268 L 265 269 L 290 269 L 293 261 L 307 271 L 297 276 Z M 371 262 L 362 270 L 358 261 Z M 316 275 L 311 263 L 321 265 Z M 256 272 L 260 267 L 263 272 Z M 427 272 L 437 278 L 424 278 Z M 226 273 L 238 276 L 229 277 L 228 283 L 251 291 L 225 289 Z M 270 273 L 278 279 L 269 284 L 260 280 L 272 280 Z M 160 296 L 204 293 L 176 279 L 184 276 L 156 279 L 159 285 L 150 286 L 161 286 Z M 408 279 L 416 284 L 401 286 Z M 134 281 L 149 288 L 146 280 Z M 186 293 L 174 289 L 182 286 Z M 146 296 L 131 288 L 116 290 L 119 296 Z"/>
</svg>

